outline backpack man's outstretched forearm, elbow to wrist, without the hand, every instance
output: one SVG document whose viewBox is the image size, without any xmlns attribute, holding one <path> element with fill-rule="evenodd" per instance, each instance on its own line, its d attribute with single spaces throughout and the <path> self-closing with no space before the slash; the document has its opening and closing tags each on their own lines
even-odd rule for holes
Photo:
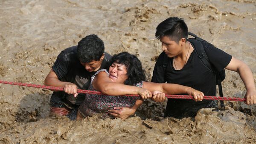
<svg viewBox="0 0 256 144">
<path fill-rule="evenodd" d="M 244 86 L 247 91 L 256 90 L 253 73 L 247 65 L 244 64 L 239 67 L 237 72 L 239 73 L 242 81 L 244 82 Z"/>
</svg>

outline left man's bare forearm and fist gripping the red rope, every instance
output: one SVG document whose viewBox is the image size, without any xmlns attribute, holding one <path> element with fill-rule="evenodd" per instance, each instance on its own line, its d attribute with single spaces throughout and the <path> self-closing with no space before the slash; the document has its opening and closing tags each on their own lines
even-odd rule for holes
<svg viewBox="0 0 256 144">
<path fill-rule="evenodd" d="M 46 78 L 44 79 L 44 85 L 61 87 L 64 89 L 65 93 L 73 94 L 75 97 L 78 95 L 77 86 L 71 82 L 61 82 L 58 79 L 56 73 L 51 69 Z M 58 91 L 58 90 L 52 90 Z"/>
</svg>

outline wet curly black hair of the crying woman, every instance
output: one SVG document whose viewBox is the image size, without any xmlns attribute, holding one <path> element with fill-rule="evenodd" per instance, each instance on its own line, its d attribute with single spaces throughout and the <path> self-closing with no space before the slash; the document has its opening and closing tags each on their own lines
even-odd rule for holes
<svg viewBox="0 0 256 144">
<path fill-rule="evenodd" d="M 128 79 L 125 80 L 125 85 L 136 85 L 136 83 L 145 81 L 145 73 L 140 60 L 128 52 L 115 54 L 112 57 L 112 62 L 124 64 L 127 70 Z"/>
</svg>

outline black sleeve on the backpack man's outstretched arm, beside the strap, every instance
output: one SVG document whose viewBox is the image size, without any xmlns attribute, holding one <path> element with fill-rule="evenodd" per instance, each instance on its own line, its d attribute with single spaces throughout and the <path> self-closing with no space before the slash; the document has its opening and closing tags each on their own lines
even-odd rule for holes
<svg viewBox="0 0 256 144">
<path fill-rule="evenodd" d="M 227 54 L 221 49 L 216 48 L 212 44 L 208 44 L 204 48 L 209 61 L 212 63 L 212 65 L 215 66 L 217 71 L 221 71 L 223 68 L 226 68 L 232 59 L 230 54 Z"/>
</svg>

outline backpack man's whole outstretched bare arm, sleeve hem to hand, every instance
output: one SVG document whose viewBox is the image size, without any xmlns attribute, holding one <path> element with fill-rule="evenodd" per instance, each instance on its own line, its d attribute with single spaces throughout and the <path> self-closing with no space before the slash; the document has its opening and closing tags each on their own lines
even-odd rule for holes
<svg viewBox="0 0 256 144">
<path fill-rule="evenodd" d="M 244 98 L 246 98 L 247 104 L 256 104 L 256 88 L 253 78 L 253 73 L 244 62 L 235 57 L 232 57 L 230 63 L 227 65 L 226 69 L 230 71 L 236 71 L 239 73 L 244 86 L 247 90 Z"/>
</svg>

